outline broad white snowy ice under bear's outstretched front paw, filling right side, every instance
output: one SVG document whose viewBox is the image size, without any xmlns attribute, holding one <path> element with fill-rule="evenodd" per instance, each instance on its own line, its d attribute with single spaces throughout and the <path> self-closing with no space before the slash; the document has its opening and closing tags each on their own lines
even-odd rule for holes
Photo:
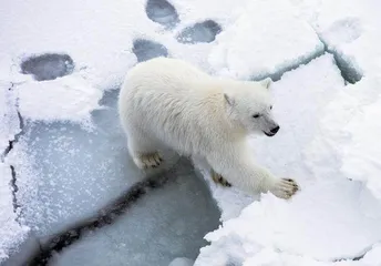
<svg viewBox="0 0 381 266">
<path fill-rule="evenodd" d="M 338 70 L 317 63 L 322 57 L 274 85 L 279 85 L 275 111 L 286 126 L 277 137 L 258 137 L 253 149 L 258 161 L 280 176 L 296 177 L 302 190 L 290 202 L 272 195 L 251 204 L 243 201 L 238 215 L 206 236 L 210 245 L 202 248 L 195 265 L 381 265 L 375 244 L 381 243 L 381 68 L 374 31 L 380 20 L 370 10 L 379 3 L 291 2 L 334 53 L 342 76 L 358 82 L 344 86 Z M 220 194 L 214 193 L 219 206 L 230 207 Z"/>
</svg>

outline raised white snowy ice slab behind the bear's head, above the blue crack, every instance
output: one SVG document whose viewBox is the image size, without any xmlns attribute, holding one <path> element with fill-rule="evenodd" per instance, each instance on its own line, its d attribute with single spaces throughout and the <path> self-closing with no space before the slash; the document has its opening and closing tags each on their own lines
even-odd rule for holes
<svg viewBox="0 0 381 266">
<path fill-rule="evenodd" d="M 219 74 L 261 79 L 281 74 L 323 52 L 313 29 L 281 0 L 249 1 L 243 14 L 216 39 L 209 63 Z"/>
</svg>

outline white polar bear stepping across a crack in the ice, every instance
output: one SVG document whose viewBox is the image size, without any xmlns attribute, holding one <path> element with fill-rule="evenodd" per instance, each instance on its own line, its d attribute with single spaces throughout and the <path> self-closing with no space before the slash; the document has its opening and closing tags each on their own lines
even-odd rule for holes
<svg viewBox="0 0 381 266">
<path fill-rule="evenodd" d="M 247 145 L 254 133 L 274 136 L 270 79 L 212 76 L 182 60 L 155 58 L 126 75 L 119 112 L 128 152 L 140 168 L 157 167 L 161 149 L 204 161 L 210 176 L 247 193 L 290 198 L 298 185 L 256 164 Z"/>
</svg>

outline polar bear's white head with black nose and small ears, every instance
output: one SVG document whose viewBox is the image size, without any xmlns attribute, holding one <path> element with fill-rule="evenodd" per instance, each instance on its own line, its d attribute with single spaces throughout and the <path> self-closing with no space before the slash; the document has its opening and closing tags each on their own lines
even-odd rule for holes
<svg viewBox="0 0 381 266">
<path fill-rule="evenodd" d="M 271 79 L 259 82 L 237 82 L 225 91 L 228 116 L 249 133 L 274 136 L 279 131 L 271 114 L 269 88 Z"/>
</svg>

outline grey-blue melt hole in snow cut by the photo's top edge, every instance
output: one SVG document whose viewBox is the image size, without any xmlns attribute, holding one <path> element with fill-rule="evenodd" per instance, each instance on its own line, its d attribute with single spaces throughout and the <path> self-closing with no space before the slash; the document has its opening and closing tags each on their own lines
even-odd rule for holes
<svg viewBox="0 0 381 266">
<path fill-rule="evenodd" d="M 179 22 L 175 8 L 166 0 L 148 0 L 145 11 L 151 20 L 168 28 Z"/>
</svg>

